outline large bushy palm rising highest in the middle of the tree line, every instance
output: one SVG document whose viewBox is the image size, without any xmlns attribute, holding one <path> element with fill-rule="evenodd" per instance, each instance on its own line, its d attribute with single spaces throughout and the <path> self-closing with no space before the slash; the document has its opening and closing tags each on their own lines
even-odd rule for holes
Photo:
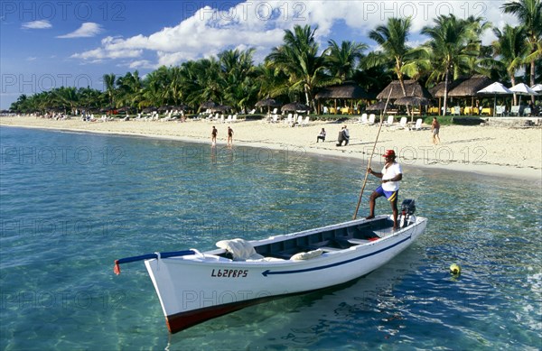
<svg viewBox="0 0 542 351">
<path fill-rule="evenodd" d="M 302 93 L 307 105 L 313 105 L 314 88 L 326 85 L 334 79 L 324 74 L 324 60 L 318 55 L 318 43 L 310 25 L 294 26 L 294 32 L 286 30 L 284 44 L 274 48 L 266 57 L 273 68 L 282 70 L 288 79 L 290 95 Z"/>
</svg>

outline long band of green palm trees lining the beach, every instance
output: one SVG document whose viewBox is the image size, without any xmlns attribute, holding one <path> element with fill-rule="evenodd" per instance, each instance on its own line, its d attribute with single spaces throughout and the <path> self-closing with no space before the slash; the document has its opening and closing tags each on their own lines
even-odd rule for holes
<svg viewBox="0 0 542 351">
<path fill-rule="evenodd" d="M 440 81 L 482 74 L 511 84 L 521 79 L 532 86 L 542 75 L 542 0 L 511 0 L 501 6 L 501 11 L 516 15 L 520 25 L 499 29 L 481 17 L 463 20 L 453 14 L 440 15 L 423 28 L 429 40 L 416 48 L 407 45 L 410 19 L 390 18 L 386 25 L 369 32 L 369 38 L 382 49 L 368 54 L 364 54 L 369 47 L 366 43 L 330 40 L 319 55 L 321 50 L 314 40 L 317 28 L 295 25 L 292 31 L 285 31 L 283 44 L 258 65 L 253 61 L 255 49 L 222 51 L 216 57 L 160 67 L 145 79 L 137 70 L 118 77 L 104 74 L 103 92 L 61 87 L 33 96 L 21 95 L 11 110 L 73 113 L 76 109 L 124 108 L 135 113 L 150 106 L 185 105 L 196 113 L 203 102 L 212 100 L 240 112 L 272 97 L 284 103 L 303 102 L 315 111 L 314 96 L 319 89 L 345 81 L 355 81 L 376 94 L 392 79 L 398 79 L 405 96 L 406 79 L 416 79 L 431 88 Z M 497 40 L 484 46 L 481 36 L 491 29 Z M 525 77 L 516 77 L 523 68 Z M 447 88 L 444 110 L 446 96 Z M 445 125 L 447 119 L 441 123 Z"/>
</svg>

